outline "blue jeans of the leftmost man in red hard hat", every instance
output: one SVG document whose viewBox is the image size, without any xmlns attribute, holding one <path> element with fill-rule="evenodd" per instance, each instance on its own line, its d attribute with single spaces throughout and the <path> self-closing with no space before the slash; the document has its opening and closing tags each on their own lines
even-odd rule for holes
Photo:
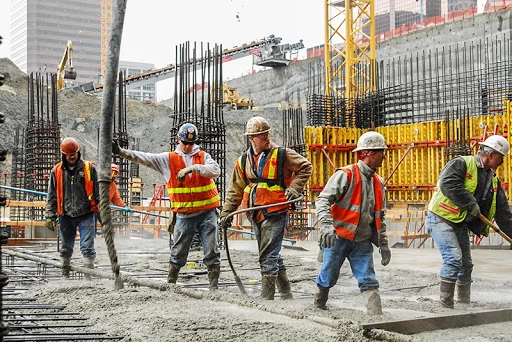
<svg viewBox="0 0 512 342">
<path fill-rule="evenodd" d="M 62 239 L 60 256 L 71 257 L 75 249 L 76 228 L 80 233 L 80 251 L 84 258 L 96 258 L 94 235 L 96 231 L 96 216 L 93 212 L 79 217 L 60 216 L 60 237 Z"/>
</svg>

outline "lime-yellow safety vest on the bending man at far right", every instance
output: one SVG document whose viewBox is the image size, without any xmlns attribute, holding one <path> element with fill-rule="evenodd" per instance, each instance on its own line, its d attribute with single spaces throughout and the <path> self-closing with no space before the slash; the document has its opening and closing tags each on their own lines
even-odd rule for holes
<svg viewBox="0 0 512 342">
<path fill-rule="evenodd" d="M 475 157 L 473 156 L 463 156 L 461 157 L 466 162 L 466 177 L 464 179 L 464 189 L 466 189 L 470 194 L 474 194 L 476 191 L 476 187 L 478 185 L 478 168 L 476 165 Z M 494 175 L 492 178 L 492 189 L 493 189 L 493 197 L 491 209 L 489 210 L 488 219 L 492 221 L 494 218 L 494 214 L 496 213 L 496 195 L 498 193 L 498 177 Z M 434 192 L 434 196 L 430 200 L 428 205 L 428 210 L 433 212 L 434 214 L 448 220 L 450 222 L 459 223 L 464 221 L 466 218 L 468 211 L 465 209 L 459 208 L 455 205 L 448 197 L 446 197 L 441 188 L 439 186 L 439 182 L 437 183 L 437 190 Z M 488 235 L 489 227 L 485 228 L 485 236 Z"/>
</svg>

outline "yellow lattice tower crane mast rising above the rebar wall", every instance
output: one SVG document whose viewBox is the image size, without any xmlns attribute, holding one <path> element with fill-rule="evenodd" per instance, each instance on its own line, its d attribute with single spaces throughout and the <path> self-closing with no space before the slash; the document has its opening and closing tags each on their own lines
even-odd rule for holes
<svg viewBox="0 0 512 342">
<path fill-rule="evenodd" d="M 325 95 L 352 99 L 376 86 L 374 0 L 325 1 Z"/>
</svg>

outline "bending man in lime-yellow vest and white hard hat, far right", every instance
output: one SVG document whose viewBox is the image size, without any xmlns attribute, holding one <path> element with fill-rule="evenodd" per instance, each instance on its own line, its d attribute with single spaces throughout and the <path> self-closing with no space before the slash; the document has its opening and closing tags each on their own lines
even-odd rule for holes
<svg viewBox="0 0 512 342">
<path fill-rule="evenodd" d="M 507 139 L 492 135 L 480 143 L 475 156 L 452 159 L 439 175 L 425 227 L 443 258 L 440 301 L 444 307 L 454 307 L 455 286 L 457 301 L 470 303 L 473 261 L 469 232 L 479 237 L 489 234 L 489 226 L 480 220 L 480 215 L 496 220 L 500 229 L 511 236 L 512 213 L 494 171 L 509 152 Z"/>
</svg>

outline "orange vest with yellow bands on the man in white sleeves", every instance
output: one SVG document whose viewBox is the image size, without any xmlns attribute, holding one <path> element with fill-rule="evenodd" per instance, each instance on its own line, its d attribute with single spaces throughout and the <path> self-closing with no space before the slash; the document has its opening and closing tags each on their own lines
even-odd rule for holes
<svg viewBox="0 0 512 342">
<path fill-rule="evenodd" d="M 204 151 L 192 157 L 193 164 L 204 164 Z M 169 152 L 171 176 L 167 182 L 167 193 L 171 210 L 175 213 L 195 213 L 220 207 L 220 197 L 215 182 L 195 172 L 178 181 L 176 175 L 186 167 L 183 158 L 176 152 Z"/>
</svg>

